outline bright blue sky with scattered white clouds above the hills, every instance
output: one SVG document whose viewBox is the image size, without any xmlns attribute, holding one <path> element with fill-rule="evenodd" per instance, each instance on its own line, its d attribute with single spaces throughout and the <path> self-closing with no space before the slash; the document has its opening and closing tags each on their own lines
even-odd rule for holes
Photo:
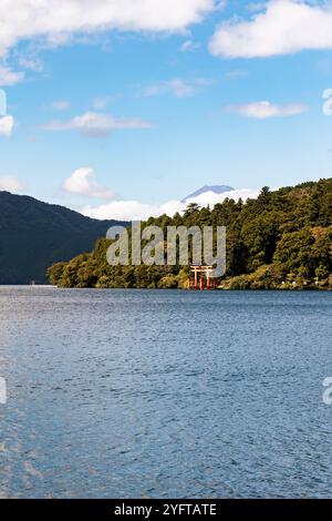
<svg viewBox="0 0 332 521">
<path fill-rule="evenodd" d="M 205 184 L 255 191 L 331 176 L 331 2 L 183 1 L 160 30 L 160 1 L 138 0 L 146 12 L 129 21 L 89 27 L 69 11 L 70 29 L 43 32 L 33 2 L 20 0 L 35 27 L 9 17 L 0 37 L 14 121 L 2 135 L 0 122 L 0 187 L 97 217 L 128 216 L 127 202 L 137 217 Z M 50 17 L 59 6 L 45 1 Z"/>
</svg>

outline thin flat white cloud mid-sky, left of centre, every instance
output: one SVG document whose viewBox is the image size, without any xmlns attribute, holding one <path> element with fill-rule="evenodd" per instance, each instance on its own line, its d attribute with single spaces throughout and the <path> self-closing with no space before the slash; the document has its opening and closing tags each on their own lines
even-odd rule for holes
<svg viewBox="0 0 332 521">
<path fill-rule="evenodd" d="M 153 124 L 139 118 L 116 119 L 110 114 L 85 112 L 68 121 L 51 121 L 41 129 L 46 131 L 76 130 L 89 137 L 104 137 L 114 130 L 151 129 Z"/>
</svg>

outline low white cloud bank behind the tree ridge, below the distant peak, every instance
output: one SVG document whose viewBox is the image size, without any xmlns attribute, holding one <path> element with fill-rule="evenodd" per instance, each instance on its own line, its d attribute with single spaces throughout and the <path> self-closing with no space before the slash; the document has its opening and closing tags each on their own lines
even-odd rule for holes
<svg viewBox="0 0 332 521">
<path fill-rule="evenodd" d="M 176 212 L 185 211 L 189 203 L 197 203 L 200 206 L 210 205 L 212 207 L 215 204 L 225 201 L 226 197 L 246 201 L 248 197 L 257 197 L 258 194 L 258 190 L 234 190 L 224 194 L 206 192 L 198 197 L 187 200 L 186 203 L 168 201 L 159 205 L 149 205 L 137 201 L 114 201 L 96 207 L 85 206 L 81 213 L 98 219 L 144 221 L 151 216 L 158 217 L 163 214 L 173 216 Z"/>
</svg>

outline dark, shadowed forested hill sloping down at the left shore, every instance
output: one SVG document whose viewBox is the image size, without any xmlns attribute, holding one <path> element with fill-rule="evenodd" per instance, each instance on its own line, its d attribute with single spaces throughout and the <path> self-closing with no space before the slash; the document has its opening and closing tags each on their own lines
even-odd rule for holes
<svg viewBox="0 0 332 521">
<path fill-rule="evenodd" d="M 0 192 L 0 284 L 45 283 L 52 263 L 90 251 L 112 223 Z"/>
</svg>

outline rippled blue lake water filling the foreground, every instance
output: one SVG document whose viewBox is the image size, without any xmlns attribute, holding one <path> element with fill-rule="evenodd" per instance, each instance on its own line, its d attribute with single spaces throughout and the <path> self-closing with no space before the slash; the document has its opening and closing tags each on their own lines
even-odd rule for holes
<svg viewBox="0 0 332 521">
<path fill-rule="evenodd" d="M 0 496 L 332 496 L 331 293 L 0 288 Z"/>
</svg>

